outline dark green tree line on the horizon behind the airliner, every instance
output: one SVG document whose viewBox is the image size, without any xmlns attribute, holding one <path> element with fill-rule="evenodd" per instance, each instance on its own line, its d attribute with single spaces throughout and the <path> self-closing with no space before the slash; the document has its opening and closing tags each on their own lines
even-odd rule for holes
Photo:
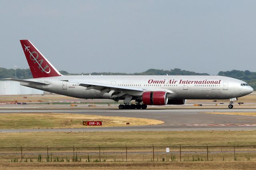
<svg viewBox="0 0 256 170">
<path fill-rule="evenodd" d="M 67 71 L 60 71 L 63 75 L 89 75 L 89 73 L 68 73 Z M 90 73 L 91 75 L 209 75 L 208 73 L 196 73 L 194 71 L 186 71 L 182 69 L 171 69 L 171 70 L 163 70 L 163 69 L 148 69 L 147 71 L 141 73 L 112 73 L 112 72 L 101 72 L 101 73 Z M 232 71 L 220 71 L 218 75 L 232 77 L 235 79 L 240 79 L 247 82 L 252 88 L 256 89 L 256 72 L 251 71 L 240 71 L 240 70 L 232 70 Z M 15 77 L 15 69 L 5 69 L 0 68 L 0 79 L 4 78 L 16 78 L 16 79 L 31 79 L 32 74 L 30 69 L 16 69 L 16 77 Z"/>
</svg>

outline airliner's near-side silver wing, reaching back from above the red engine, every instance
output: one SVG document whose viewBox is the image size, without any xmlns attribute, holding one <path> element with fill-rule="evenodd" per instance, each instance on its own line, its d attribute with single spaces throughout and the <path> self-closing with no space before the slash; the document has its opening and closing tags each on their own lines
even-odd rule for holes
<svg viewBox="0 0 256 170">
<path fill-rule="evenodd" d="M 76 80 L 62 80 L 68 81 L 70 83 L 78 83 L 79 86 L 87 87 L 89 89 L 96 89 L 100 91 L 111 91 L 111 90 L 119 90 L 119 91 L 144 91 L 144 89 L 140 87 L 122 87 L 117 85 L 110 85 L 104 83 L 93 83 L 93 82 L 85 82 L 85 81 L 76 81 Z"/>
</svg>

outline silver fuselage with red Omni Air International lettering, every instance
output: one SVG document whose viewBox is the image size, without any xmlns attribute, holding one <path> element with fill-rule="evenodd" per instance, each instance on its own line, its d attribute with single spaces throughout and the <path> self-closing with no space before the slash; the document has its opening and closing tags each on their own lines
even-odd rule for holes
<svg viewBox="0 0 256 170">
<path fill-rule="evenodd" d="M 62 75 L 28 79 L 49 85 L 20 83 L 21 85 L 51 93 L 83 99 L 111 99 L 112 93 L 96 89 L 87 90 L 78 83 L 65 80 L 86 81 L 120 87 L 140 88 L 144 91 L 167 91 L 169 99 L 231 99 L 252 93 L 246 82 L 224 76 L 199 75 Z M 127 92 L 141 96 L 143 92 Z M 122 98 L 121 98 L 122 99 Z"/>
</svg>

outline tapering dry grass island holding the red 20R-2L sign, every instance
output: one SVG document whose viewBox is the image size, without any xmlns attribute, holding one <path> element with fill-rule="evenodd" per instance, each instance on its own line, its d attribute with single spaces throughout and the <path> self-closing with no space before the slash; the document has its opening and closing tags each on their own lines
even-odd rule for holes
<svg viewBox="0 0 256 170">
<path fill-rule="evenodd" d="M 84 128 L 83 121 L 102 121 L 102 127 L 157 125 L 163 121 L 130 117 L 109 117 L 98 115 L 63 113 L 6 113 L 0 115 L 0 128 Z M 130 125 L 126 125 L 130 123 Z M 101 126 L 100 126 L 101 127 Z"/>
</svg>

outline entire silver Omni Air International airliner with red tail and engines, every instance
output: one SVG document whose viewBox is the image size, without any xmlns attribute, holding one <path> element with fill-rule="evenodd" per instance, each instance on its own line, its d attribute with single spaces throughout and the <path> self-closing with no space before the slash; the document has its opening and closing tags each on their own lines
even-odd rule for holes
<svg viewBox="0 0 256 170">
<path fill-rule="evenodd" d="M 252 93 L 244 81 L 203 75 L 62 75 L 29 40 L 20 40 L 33 79 L 20 85 L 81 99 L 124 100 L 119 109 L 184 105 L 186 99 L 230 99 Z M 131 100 L 137 103 L 130 104 Z"/>
</svg>

